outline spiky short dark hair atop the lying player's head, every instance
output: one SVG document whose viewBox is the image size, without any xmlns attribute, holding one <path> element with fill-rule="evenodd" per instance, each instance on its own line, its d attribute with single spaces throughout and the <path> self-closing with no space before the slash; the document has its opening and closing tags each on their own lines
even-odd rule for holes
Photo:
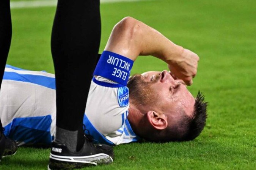
<svg viewBox="0 0 256 170">
<path fill-rule="evenodd" d="M 208 102 L 204 101 L 204 95 L 198 91 L 192 117 L 187 118 L 185 133 L 177 141 L 191 141 L 199 136 L 206 125 L 207 105 Z"/>
</svg>

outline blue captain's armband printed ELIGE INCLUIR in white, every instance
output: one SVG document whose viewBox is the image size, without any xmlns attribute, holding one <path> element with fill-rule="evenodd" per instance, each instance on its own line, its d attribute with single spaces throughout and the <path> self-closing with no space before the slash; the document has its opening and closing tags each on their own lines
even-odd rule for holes
<svg viewBox="0 0 256 170">
<path fill-rule="evenodd" d="M 110 51 L 103 51 L 94 70 L 94 76 L 102 76 L 126 86 L 133 60 Z"/>
</svg>

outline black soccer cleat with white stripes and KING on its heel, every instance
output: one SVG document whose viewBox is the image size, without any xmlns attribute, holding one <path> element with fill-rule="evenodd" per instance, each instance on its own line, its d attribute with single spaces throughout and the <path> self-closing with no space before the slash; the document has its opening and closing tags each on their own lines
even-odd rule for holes
<svg viewBox="0 0 256 170">
<path fill-rule="evenodd" d="M 73 169 L 113 162 L 113 148 L 104 144 L 93 144 L 88 139 L 78 152 L 71 152 L 65 144 L 53 141 L 48 164 L 49 170 Z"/>
</svg>

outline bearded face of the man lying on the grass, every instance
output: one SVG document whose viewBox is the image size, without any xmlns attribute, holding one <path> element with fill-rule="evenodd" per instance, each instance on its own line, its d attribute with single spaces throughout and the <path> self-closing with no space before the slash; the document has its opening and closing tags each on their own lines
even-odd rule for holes
<svg viewBox="0 0 256 170">
<path fill-rule="evenodd" d="M 170 113 L 172 116 L 184 110 L 190 116 L 194 110 L 195 99 L 183 81 L 164 70 L 148 71 L 130 77 L 127 87 L 133 105 Z"/>
</svg>

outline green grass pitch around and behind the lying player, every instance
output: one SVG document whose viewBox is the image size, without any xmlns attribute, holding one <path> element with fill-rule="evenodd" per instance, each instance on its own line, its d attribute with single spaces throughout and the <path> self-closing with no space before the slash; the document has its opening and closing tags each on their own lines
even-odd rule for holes
<svg viewBox="0 0 256 170">
<path fill-rule="evenodd" d="M 16 0 L 17 1 L 17 0 Z M 188 87 L 209 102 L 207 125 L 190 142 L 132 143 L 114 147 L 113 164 L 93 170 L 256 169 L 256 1 L 152 0 L 101 5 L 103 51 L 119 20 L 131 16 L 159 30 L 200 57 Z M 53 72 L 50 34 L 55 7 L 11 9 L 13 37 L 7 63 Z M 132 73 L 165 70 L 151 56 L 139 57 Z M 47 169 L 49 148 L 19 147 L 1 170 Z"/>
</svg>

